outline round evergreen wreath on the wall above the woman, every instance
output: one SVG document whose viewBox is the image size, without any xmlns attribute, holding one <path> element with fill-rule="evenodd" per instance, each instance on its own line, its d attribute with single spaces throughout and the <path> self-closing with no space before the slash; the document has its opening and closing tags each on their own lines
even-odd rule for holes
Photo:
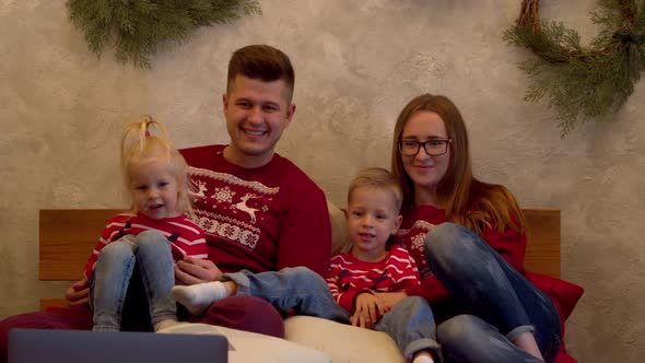
<svg viewBox="0 0 645 363">
<path fill-rule="evenodd" d="M 504 39 L 538 56 L 519 63 L 532 81 L 525 101 L 548 96 L 564 138 L 578 119 L 606 121 L 633 93 L 645 71 L 645 0 L 598 0 L 591 21 L 605 28 L 588 47 L 564 24 L 540 21 L 539 2 L 523 1 Z"/>
</svg>

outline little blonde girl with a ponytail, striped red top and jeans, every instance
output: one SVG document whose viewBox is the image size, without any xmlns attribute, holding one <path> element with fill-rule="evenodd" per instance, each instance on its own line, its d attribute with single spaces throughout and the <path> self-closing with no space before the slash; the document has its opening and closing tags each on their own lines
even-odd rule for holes
<svg viewBox="0 0 645 363">
<path fill-rule="evenodd" d="M 118 331 L 133 269 L 139 270 L 154 330 L 177 324 L 174 261 L 207 257 L 203 231 L 190 222 L 186 162 L 150 116 L 126 126 L 121 168 L 131 210 L 108 221 L 85 265 L 96 331 Z"/>
</svg>

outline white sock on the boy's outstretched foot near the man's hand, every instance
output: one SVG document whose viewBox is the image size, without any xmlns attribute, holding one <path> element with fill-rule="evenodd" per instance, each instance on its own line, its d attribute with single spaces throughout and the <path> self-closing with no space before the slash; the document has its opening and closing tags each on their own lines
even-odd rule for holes
<svg viewBox="0 0 645 363">
<path fill-rule="evenodd" d="M 228 296 L 226 288 L 220 281 L 176 285 L 171 292 L 192 315 L 201 315 L 212 303 Z"/>
</svg>

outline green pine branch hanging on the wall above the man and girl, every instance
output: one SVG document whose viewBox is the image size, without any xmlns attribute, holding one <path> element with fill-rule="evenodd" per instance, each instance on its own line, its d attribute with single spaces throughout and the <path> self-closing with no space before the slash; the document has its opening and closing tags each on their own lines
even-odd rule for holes
<svg viewBox="0 0 645 363">
<path fill-rule="evenodd" d="M 160 48 L 186 40 L 199 26 L 260 14 L 256 0 L 68 0 L 69 16 L 98 57 L 112 44 L 122 62 L 151 68 Z"/>
</svg>

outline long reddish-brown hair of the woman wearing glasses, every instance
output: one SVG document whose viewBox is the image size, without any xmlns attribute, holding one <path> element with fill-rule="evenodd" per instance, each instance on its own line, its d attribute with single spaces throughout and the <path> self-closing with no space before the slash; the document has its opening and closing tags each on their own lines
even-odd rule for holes
<svg viewBox="0 0 645 363">
<path fill-rule="evenodd" d="M 414 204 L 414 183 L 406 173 L 398 142 L 408 120 L 417 113 L 437 114 L 446 126 L 450 161 L 437 185 L 437 198 L 446 210 L 446 219 L 481 234 L 485 227 L 503 232 L 511 226 L 526 232 L 526 219 L 513 195 L 501 185 L 478 180 L 472 175 L 466 124 L 457 106 L 446 96 L 422 94 L 403 107 L 395 126 L 391 151 L 391 169 L 403 190 L 403 209 Z M 422 151 L 423 152 L 423 151 Z"/>
</svg>

